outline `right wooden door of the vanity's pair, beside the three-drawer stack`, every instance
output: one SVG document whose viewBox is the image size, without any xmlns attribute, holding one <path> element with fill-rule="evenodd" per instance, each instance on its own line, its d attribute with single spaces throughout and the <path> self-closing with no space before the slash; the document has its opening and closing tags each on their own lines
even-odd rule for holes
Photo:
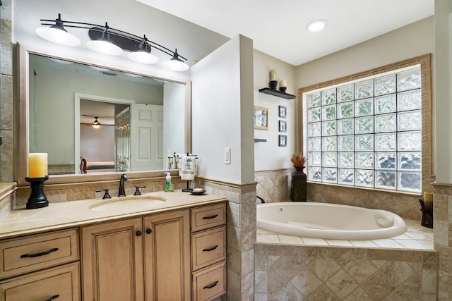
<svg viewBox="0 0 452 301">
<path fill-rule="evenodd" d="M 152 231 L 144 237 L 146 300 L 190 300 L 189 210 L 147 216 L 144 225 Z"/>
</svg>

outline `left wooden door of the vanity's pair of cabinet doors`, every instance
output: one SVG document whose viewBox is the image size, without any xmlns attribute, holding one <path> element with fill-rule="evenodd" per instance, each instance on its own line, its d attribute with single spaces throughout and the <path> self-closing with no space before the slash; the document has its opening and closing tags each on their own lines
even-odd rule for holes
<svg viewBox="0 0 452 301">
<path fill-rule="evenodd" d="M 83 300 L 143 300 L 141 219 L 82 228 Z"/>
</svg>

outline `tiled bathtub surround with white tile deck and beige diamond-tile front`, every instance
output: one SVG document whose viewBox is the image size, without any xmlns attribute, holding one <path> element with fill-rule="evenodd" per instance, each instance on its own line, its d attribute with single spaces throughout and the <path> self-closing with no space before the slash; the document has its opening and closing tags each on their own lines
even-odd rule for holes
<svg viewBox="0 0 452 301">
<path fill-rule="evenodd" d="M 258 229 L 255 300 L 436 300 L 439 256 L 431 229 L 417 224 L 408 221 L 407 233 L 392 242 L 315 240 Z M 422 245 L 415 250 L 402 240 Z"/>
</svg>

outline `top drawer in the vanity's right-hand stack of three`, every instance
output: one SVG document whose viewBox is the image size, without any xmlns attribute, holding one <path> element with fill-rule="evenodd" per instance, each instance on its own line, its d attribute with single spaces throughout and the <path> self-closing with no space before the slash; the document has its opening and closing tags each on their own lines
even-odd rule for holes
<svg viewBox="0 0 452 301">
<path fill-rule="evenodd" d="M 200 231 L 226 223 L 226 203 L 191 209 L 191 231 Z"/>
</svg>

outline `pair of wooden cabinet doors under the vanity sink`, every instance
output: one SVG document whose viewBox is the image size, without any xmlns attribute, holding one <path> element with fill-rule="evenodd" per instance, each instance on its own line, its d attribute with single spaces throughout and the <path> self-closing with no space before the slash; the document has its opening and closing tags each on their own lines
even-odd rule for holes
<svg viewBox="0 0 452 301">
<path fill-rule="evenodd" d="M 84 300 L 190 300 L 189 209 L 82 228 Z"/>
</svg>

